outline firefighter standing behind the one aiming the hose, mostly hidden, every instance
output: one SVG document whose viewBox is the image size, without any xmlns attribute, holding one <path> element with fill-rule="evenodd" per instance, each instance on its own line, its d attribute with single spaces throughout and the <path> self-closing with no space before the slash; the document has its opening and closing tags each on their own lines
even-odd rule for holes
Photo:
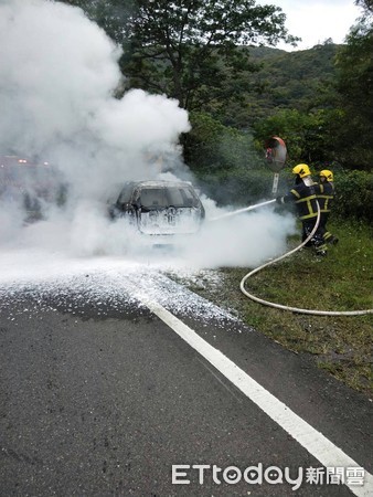
<svg viewBox="0 0 373 497">
<path fill-rule="evenodd" d="M 330 208 L 334 199 L 334 178 L 332 171 L 329 169 L 323 169 L 320 171 L 319 177 L 320 182 L 315 186 L 315 191 L 321 210 L 320 232 L 326 243 L 335 245 L 338 243 L 338 237 L 332 235 L 327 229 Z"/>
</svg>

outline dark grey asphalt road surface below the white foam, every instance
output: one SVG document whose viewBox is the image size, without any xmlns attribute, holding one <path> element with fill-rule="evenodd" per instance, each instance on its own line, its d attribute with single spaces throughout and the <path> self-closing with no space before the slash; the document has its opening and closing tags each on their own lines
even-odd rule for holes
<svg viewBox="0 0 373 497">
<path fill-rule="evenodd" d="M 230 466 L 289 468 L 292 479 L 324 468 L 150 310 L 42 300 L 1 309 L 1 496 L 353 495 L 320 482 L 294 490 L 285 477 L 255 484 L 259 469 L 228 483 Z M 366 396 L 238 322 L 182 319 L 372 473 Z"/>
</svg>

